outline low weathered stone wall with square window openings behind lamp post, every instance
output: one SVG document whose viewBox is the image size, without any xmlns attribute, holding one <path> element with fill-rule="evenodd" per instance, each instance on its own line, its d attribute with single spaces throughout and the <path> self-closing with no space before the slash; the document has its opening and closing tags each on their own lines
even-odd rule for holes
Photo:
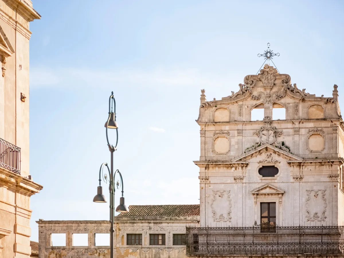
<svg viewBox="0 0 344 258">
<path fill-rule="evenodd" d="M 114 249 L 116 258 L 185 258 L 185 246 L 174 246 L 173 234 L 185 234 L 186 225 L 199 226 L 199 216 L 187 219 L 161 220 L 155 217 L 144 221 L 117 219 Z M 110 257 L 109 246 L 95 246 L 96 233 L 109 233 L 108 221 L 37 221 L 39 228 L 39 258 Z M 52 246 L 51 234 L 66 234 L 65 246 Z M 73 234 L 88 234 L 88 246 L 73 246 Z M 142 234 L 142 245 L 128 245 L 127 234 Z M 149 234 L 165 234 L 165 245 L 152 246 Z"/>
</svg>

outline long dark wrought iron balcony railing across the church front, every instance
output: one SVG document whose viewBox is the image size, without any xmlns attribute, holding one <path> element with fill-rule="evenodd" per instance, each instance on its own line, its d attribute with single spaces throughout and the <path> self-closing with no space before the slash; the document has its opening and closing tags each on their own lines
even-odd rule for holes
<svg viewBox="0 0 344 258">
<path fill-rule="evenodd" d="M 344 226 L 186 227 L 186 255 L 342 254 Z"/>
</svg>

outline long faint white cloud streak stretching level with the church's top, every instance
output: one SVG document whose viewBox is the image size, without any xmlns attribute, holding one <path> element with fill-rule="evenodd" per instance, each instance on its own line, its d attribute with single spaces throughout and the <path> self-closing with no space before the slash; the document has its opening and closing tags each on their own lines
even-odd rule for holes
<svg viewBox="0 0 344 258">
<path fill-rule="evenodd" d="M 31 67 L 30 85 L 32 88 L 63 87 L 69 89 L 81 87 L 99 87 L 109 84 L 121 86 L 168 87 L 226 84 L 228 74 L 206 74 L 197 69 L 155 68 L 104 70 L 90 68 L 51 68 Z"/>
</svg>

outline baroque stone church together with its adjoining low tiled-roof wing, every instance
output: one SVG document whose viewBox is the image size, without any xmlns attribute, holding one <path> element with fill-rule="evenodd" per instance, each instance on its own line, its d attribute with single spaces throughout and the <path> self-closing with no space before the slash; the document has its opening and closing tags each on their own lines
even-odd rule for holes
<svg viewBox="0 0 344 258">
<path fill-rule="evenodd" d="M 130 206 L 116 217 L 116 257 L 344 257 L 344 123 L 337 85 L 332 97 L 316 97 L 266 64 L 221 100 L 206 101 L 201 90 L 196 121 L 199 211 L 188 217 L 177 212 L 183 205 L 171 213 L 164 212 L 168 205 Z M 37 223 L 40 258 L 74 257 L 66 250 L 73 250 L 70 239 L 83 228 L 88 247 L 75 257 L 89 249 L 100 256 L 93 239 L 101 222 Z M 67 235 L 65 246 L 52 246 L 57 232 Z"/>
</svg>

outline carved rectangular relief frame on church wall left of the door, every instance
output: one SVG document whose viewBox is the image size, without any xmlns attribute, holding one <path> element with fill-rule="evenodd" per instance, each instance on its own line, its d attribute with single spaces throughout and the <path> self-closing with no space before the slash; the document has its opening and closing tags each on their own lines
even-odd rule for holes
<svg viewBox="0 0 344 258">
<path fill-rule="evenodd" d="M 214 222 L 230 222 L 232 203 L 230 200 L 230 191 L 213 190 L 213 197 L 210 204 Z"/>
</svg>

